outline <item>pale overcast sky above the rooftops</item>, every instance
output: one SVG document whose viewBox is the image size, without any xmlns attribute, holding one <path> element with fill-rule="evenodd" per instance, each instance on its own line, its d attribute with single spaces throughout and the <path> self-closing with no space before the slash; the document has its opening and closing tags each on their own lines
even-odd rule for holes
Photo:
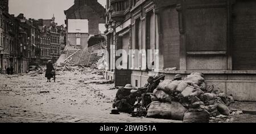
<svg viewBox="0 0 256 134">
<path fill-rule="evenodd" d="M 105 7 L 106 0 L 98 0 Z M 64 10 L 69 9 L 74 0 L 9 0 L 9 13 L 15 16 L 23 13 L 26 18 L 51 19 L 54 14 L 55 22 L 65 24 Z"/>
</svg>

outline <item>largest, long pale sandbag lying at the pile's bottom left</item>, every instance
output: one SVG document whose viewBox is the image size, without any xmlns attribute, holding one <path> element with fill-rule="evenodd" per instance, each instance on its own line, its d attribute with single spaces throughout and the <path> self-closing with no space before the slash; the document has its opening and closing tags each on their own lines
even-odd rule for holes
<svg viewBox="0 0 256 134">
<path fill-rule="evenodd" d="M 171 120 L 183 120 L 187 111 L 179 102 L 161 103 L 152 102 L 147 111 L 148 118 L 162 118 Z"/>
</svg>

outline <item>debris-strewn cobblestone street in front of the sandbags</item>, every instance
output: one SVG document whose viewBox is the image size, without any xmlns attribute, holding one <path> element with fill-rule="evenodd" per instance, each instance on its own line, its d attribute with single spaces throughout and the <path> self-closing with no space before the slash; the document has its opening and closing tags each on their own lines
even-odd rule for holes
<svg viewBox="0 0 256 134">
<path fill-rule="evenodd" d="M 82 81 L 82 82 L 81 82 Z M 86 73 L 62 74 L 47 83 L 44 75 L 0 78 L 0 122 L 179 122 L 175 120 L 132 118 L 111 115 L 117 90 L 112 84 L 96 85 L 102 76 Z"/>
</svg>

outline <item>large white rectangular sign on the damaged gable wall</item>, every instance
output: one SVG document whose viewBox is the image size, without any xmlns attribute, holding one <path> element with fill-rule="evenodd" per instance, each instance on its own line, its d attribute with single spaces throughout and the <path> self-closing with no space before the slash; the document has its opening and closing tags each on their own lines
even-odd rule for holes
<svg viewBox="0 0 256 134">
<path fill-rule="evenodd" d="M 88 33 L 88 20 L 87 19 L 68 19 L 68 32 L 69 33 Z"/>
</svg>

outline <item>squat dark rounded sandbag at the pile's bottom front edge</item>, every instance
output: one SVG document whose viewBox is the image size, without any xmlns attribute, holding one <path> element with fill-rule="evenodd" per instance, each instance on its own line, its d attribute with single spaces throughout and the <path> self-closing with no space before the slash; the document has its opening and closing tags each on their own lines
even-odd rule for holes
<svg viewBox="0 0 256 134">
<path fill-rule="evenodd" d="M 184 114 L 184 123 L 209 123 L 210 114 L 206 110 L 189 110 Z"/>
</svg>

